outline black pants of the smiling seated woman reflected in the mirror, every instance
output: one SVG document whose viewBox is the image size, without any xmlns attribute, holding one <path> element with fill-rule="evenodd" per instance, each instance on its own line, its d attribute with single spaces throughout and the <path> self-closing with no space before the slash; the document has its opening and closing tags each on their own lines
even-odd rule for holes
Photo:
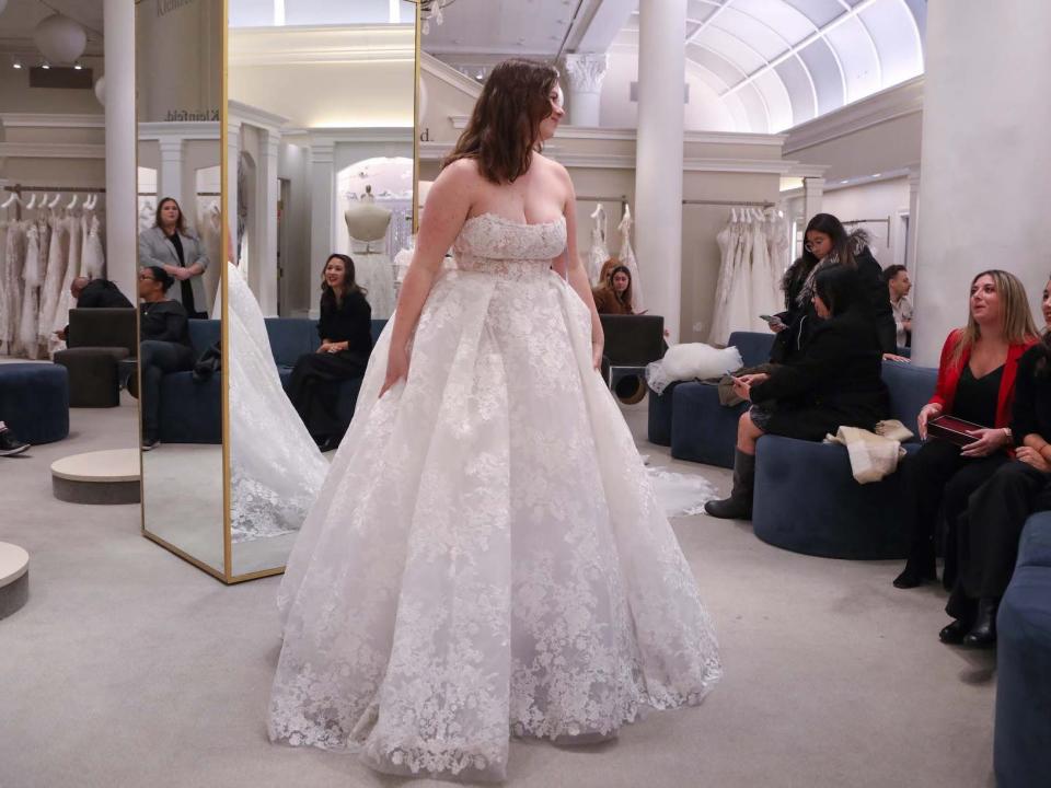
<svg viewBox="0 0 1051 788">
<path fill-rule="evenodd" d="M 348 422 L 339 418 L 339 383 L 365 373 L 368 358 L 359 354 L 313 352 L 300 356 L 292 369 L 288 398 L 315 440 L 343 438 Z"/>
</svg>

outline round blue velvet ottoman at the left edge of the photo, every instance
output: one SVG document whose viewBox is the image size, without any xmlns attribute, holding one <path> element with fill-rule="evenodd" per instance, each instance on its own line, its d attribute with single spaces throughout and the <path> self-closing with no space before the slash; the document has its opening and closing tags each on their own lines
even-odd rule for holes
<svg viewBox="0 0 1051 788">
<path fill-rule="evenodd" d="M 69 436 L 69 373 L 49 363 L 0 364 L 0 421 L 27 443 Z"/>
</svg>

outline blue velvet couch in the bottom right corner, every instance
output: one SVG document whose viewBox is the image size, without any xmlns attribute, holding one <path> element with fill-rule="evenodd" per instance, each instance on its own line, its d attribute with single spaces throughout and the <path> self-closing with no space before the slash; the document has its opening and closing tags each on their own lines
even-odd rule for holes
<svg viewBox="0 0 1051 788">
<path fill-rule="evenodd" d="M 996 628 L 996 785 L 1042 788 L 1051 783 L 1051 512 L 1026 523 Z"/>
</svg>

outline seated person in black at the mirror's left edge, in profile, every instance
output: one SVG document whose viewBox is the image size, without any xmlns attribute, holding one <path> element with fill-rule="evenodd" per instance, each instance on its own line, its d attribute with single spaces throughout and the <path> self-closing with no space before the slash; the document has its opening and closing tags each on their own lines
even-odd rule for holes
<svg viewBox="0 0 1051 788">
<path fill-rule="evenodd" d="M 165 297 L 174 283 L 175 280 L 160 266 L 139 271 L 139 368 L 142 378 L 139 406 L 142 409 L 143 451 L 160 444 L 161 378 L 194 367 L 186 310 L 178 301 Z"/>
</svg>

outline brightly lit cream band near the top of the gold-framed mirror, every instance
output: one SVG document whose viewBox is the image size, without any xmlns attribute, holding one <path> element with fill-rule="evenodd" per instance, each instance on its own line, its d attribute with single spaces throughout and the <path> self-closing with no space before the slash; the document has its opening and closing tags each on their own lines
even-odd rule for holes
<svg viewBox="0 0 1051 788">
<path fill-rule="evenodd" d="M 234 27 L 230 66 L 312 65 L 414 60 L 414 25 Z"/>
</svg>

